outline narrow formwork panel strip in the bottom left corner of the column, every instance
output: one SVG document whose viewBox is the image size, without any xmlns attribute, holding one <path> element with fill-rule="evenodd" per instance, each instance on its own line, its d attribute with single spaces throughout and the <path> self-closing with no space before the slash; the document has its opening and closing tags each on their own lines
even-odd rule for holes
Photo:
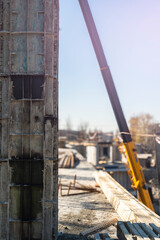
<svg viewBox="0 0 160 240">
<path fill-rule="evenodd" d="M 8 205 L 0 204 L 0 239 L 7 239 L 7 229 L 8 229 Z"/>
</svg>

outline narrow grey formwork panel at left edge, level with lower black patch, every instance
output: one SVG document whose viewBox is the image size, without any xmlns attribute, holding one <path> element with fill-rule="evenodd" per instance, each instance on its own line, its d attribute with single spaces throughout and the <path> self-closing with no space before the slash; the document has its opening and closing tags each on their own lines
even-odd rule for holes
<svg viewBox="0 0 160 240">
<path fill-rule="evenodd" d="M 8 202 L 8 163 L 0 162 L 0 202 Z"/>
</svg>

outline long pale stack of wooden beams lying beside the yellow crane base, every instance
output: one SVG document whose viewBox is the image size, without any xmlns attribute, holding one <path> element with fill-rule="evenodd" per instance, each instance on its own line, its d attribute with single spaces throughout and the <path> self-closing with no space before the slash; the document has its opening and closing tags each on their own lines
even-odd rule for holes
<svg viewBox="0 0 160 240">
<path fill-rule="evenodd" d="M 151 222 L 160 227 L 160 216 L 131 195 L 108 173 L 96 171 L 94 176 L 108 201 L 123 221 Z"/>
</svg>

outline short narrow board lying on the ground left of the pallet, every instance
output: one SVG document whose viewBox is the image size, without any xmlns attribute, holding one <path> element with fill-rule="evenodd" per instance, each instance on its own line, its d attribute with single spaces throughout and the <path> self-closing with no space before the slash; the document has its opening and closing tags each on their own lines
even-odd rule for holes
<svg viewBox="0 0 160 240">
<path fill-rule="evenodd" d="M 90 235 L 90 234 L 93 234 L 93 233 L 97 233 L 97 232 L 111 226 L 112 224 L 114 224 L 116 222 L 117 222 L 117 218 L 112 218 L 111 220 L 109 220 L 105 223 L 99 224 L 95 227 L 91 227 L 91 228 L 81 232 L 80 235 L 87 236 L 87 235 Z"/>
</svg>

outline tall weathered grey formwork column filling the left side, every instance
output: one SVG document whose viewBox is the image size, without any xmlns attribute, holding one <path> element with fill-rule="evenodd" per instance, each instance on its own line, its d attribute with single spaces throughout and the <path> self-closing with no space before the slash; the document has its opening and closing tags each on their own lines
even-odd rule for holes
<svg viewBox="0 0 160 240">
<path fill-rule="evenodd" d="M 0 0 L 0 239 L 56 239 L 58 0 Z"/>
</svg>

